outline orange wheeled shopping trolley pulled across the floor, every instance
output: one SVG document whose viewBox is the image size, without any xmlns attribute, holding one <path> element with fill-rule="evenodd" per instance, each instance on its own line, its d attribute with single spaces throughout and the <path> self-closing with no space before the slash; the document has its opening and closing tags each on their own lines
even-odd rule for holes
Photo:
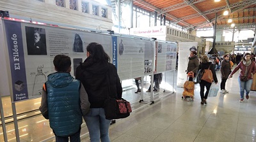
<svg viewBox="0 0 256 142">
<path fill-rule="evenodd" d="M 192 77 L 194 78 L 194 73 L 188 73 L 188 78 Z M 191 81 L 187 81 L 184 83 L 184 91 L 182 93 L 182 99 L 184 101 L 194 101 L 194 89 L 195 89 L 195 83 Z"/>
</svg>

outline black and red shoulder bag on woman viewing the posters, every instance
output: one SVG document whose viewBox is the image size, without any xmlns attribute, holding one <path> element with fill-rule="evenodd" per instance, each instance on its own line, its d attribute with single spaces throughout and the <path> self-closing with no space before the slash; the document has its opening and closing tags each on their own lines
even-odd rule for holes
<svg viewBox="0 0 256 142">
<path fill-rule="evenodd" d="M 108 94 L 110 94 L 110 87 L 109 87 L 109 73 L 106 73 L 106 78 L 108 81 Z M 106 119 L 119 119 L 129 117 L 130 113 L 132 112 L 131 104 L 129 101 L 125 99 L 116 99 L 113 97 L 109 97 L 104 101 L 103 108 L 105 110 Z"/>
</svg>

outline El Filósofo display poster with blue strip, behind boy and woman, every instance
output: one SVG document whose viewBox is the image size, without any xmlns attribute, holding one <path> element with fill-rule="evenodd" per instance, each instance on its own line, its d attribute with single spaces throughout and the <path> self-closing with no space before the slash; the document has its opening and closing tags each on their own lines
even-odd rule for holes
<svg viewBox="0 0 256 142">
<path fill-rule="evenodd" d="M 86 59 L 86 46 L 100 43 L 112 57 L 111 36 L 44 25 L 4 21 L 11 64 L 12 101 L 41 97 L 47 76 L 56 72 L 56 55 L 68 55 L 75 76 L 76 67 Z"/>
</svg>

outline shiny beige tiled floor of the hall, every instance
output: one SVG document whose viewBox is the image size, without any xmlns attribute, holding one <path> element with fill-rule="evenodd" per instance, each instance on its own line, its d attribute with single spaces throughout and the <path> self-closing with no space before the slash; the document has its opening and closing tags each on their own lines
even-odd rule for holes
<svg viewBox="0 0 256 142">
<path fill-rule="evenodd" d="M 230 93 L 209 97 L 204 106 L 200 104 L 199 85 L 195 87 L 193 102 L 182 101 L 183 89 L 175 85 L 175 93 L 170 93 L 173 82 L 176 82 L 172 79 L 173 72 L 167 73 L 166 83 L 161 84 L 166 91 L 163 93 L 162 88 L 154 95 L 156 100 L 159 99 L 154 104 L 138 103 L 141 98 L 140 94 L 134 94 L 136 89 L 126 90 L 124 98 L 133 103 L 134 111 L 130 117 L 116 120 L 116 124 L 110 126 L 111 141 L 256 141 L 256 92 L 250 92 L 250 99 L 239 103 L 238 74 L 227 81 Z M 220 82 L 220 72 L 218 78 Z M 147 88 L 148 85 L 144 92 Z M 169 95 L 164 96 L 166 94 Z M 149 100 L 149 93 L 145 92 L 143 100 Z M 3 98 L 5 116 L 12 114 L 9 101 Z M 33 110 L 39 105 L 40 99 L 21 102 L 17 104 L 17 113 Z M 90 141 L 86 125 L 82 127 L 82 141 Z M 20 141 L 54 141 L 49 122 L 41 115 L 19 120 L 19 128 Z M 7 124 L 6 129 L 9 141 L 15 141 L 13 124 Z M 0 141 L 3 141 L 3 133 Z"/>
</svg>

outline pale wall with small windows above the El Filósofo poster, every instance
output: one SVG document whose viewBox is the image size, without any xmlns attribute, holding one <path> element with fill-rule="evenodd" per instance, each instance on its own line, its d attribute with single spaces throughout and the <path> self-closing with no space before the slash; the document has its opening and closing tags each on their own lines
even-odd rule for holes
<svg viewBox="0 0 256 142">
<path fill-rule="evenodd" d="M 112 8 L 92 0 L 8 0 L 0 1 L 0 10 L 10 17 L 73 25 L 90 29 L 112 29 Z"/>
</svg>

